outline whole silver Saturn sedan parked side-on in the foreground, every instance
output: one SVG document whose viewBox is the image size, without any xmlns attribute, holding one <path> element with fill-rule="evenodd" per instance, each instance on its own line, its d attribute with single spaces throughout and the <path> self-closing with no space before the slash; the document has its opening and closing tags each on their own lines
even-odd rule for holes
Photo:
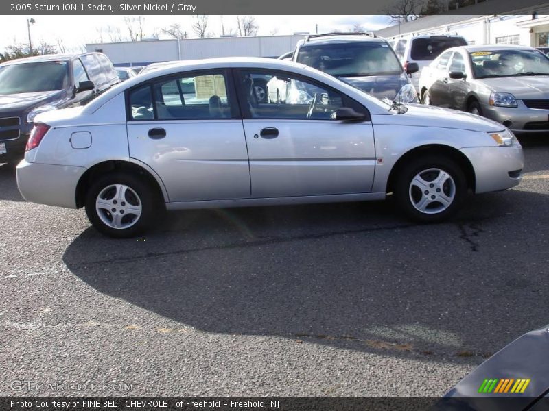
<svg viewBox="0 0 549 411">
<path fill-rule="evenodd" d="M 259 102 L 254 79 L 307 97 Z M 522 148 L 499 123 L 381 101 L 294 62 L 178 62 L 82 108 L 39 114 L 17 166 L 25 199 L 85 207 L 102 233 L 128 237 L 164 210 L 384 199 L 441 221 L 467 190 L 519 184 Z"/>
</svg>

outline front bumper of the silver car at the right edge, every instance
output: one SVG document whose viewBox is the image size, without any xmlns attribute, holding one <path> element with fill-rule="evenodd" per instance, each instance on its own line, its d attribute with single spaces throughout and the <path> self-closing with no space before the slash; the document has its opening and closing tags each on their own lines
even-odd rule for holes
<svg viewBox="0 0 549 411">
<path fill-rule="evenodd" d="M 528 108 L 522 100 L 517 104 L 515 108 L 483 105 L 482 114 L 504 124 L 515 134 L 549 132 L 549 110 Z"/>
</svg>

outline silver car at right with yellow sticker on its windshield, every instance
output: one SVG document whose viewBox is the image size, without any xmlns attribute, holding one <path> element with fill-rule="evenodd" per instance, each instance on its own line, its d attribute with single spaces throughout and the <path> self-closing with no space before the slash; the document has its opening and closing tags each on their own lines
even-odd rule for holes
<svg viewBox="0 0 549 411">
<path fill-rule="evenodd" d="M 532 47 L 454 47 L 425 67 L 421 101 L 502 123 L 514 133 L 549 132 L 549 58 Z"/>
</svg>

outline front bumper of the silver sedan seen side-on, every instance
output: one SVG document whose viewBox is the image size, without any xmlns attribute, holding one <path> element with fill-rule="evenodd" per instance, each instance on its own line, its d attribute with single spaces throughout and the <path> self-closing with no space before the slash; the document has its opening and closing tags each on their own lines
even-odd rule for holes
<svg viewBox="0 0 549 411">
<path fill-rule="evenodd" d="M 522 180 L 524 154 L 517 142 L 511 147 L 466 147 L 467 155 L 475 171 L 475 192 L 506 190 Z"/>
</svg>

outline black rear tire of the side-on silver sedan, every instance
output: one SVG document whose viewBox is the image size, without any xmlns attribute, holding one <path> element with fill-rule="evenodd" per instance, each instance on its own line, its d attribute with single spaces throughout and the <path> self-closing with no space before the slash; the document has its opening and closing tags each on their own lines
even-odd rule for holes
<svg viewBox="0 0 549 411">
<path fill-rule="evenodd" d="M 117 184 L 129 188 L 129 190 L 126 190 L 126 195 L 124 195 L 126 201 L 117 201 L 115 197 L 111 197 L 113 190 L 116 191 L 113 186 Z M 121 219 L 120 228 L 111 227 L 105 222 L 110 219 L 113 223 L 115 213 L 111 213 L 106 208 L 97 210 L 96 200 L 100 193 L 105 201 L 117 201 L 118 204 L 113 205 L 113 209 L 116 210 Z M 122 208 L 122 206 L 128 206 L 128 208 L 134 206 L 137 210 L 139 205 L 141 208 L 139 217 L 132 214 L 131 210 L 128 211 Z M 93 227 L 102 234 L 113 238 L 137 236 L 137 234 L 141 234 L 150 228 L 158 217 L 163 216 L 165 212 L 163 201 L 159 198 L 157 190 L 154 190 L 152 184 L 148 183 L 142 176 L 134 176 L 124 172 L 110 173 L 97 179 L 86 193 L 85 207 L 86 214 Z M 102 216 L 100 216 L 100 212 Z M 125 212 L 126 215 L 121 215 L 122 212 Z M 127 227 L 124 228 L 124 225 L 127 225 Z"/>
</svg>

